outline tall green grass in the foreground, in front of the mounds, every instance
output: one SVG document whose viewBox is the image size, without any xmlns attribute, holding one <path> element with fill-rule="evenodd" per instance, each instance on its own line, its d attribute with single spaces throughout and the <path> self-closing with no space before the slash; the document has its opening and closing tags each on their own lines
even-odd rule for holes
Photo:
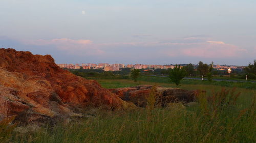
<svg viewBox="0 0 256 143">
<path fill-rule="evenodd" d="M 255 142 L 253 108 L 239 106 L 210 116 L 196 105 L 98 113 L 95 118 L 13 134 L 12 142 Z"/>
</svg>

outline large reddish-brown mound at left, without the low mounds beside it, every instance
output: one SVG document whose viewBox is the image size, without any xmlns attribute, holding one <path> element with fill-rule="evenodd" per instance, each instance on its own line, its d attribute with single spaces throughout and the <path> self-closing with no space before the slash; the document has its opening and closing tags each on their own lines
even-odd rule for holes
<svg viewBox="0 0 256 143">
<path fill-rule="evenodd" d="M 118 109 L 127 105 L 95 80 L 59 68 L 50 55 L 1 48 L 0 68 L 0 106 L 8 109 L 0 109 L 2 116 L 22 114 L 33 122 L 36 117 L 79 116 L 74 106 Z"/>
</svg>

